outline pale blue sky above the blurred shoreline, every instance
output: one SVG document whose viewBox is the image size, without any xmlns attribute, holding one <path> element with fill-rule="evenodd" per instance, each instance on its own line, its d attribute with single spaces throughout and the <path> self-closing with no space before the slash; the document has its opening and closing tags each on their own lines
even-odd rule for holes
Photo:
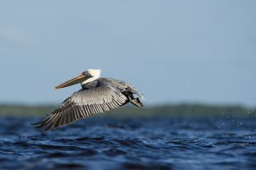
<svg viewBox="0 0 256 170">
<path fill-rule="evenodd" d="M 146 105 L 256 106 L 256 1 L 1 1 L 1 103 L 61 103 L 86 69 Z"/>
</svg>

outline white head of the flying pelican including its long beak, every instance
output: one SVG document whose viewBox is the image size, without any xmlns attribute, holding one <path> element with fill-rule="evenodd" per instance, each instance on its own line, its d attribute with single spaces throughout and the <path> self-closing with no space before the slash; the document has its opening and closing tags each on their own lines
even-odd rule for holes
<svg viewBox="0 0 256 170">
<path fill-rule="evenodd" d="M 67 86 L 72 86 L 74 84 L 87 84 L 90 81 L 94 81 L 101 76 L 101 69 L 87 69 L 86 71 L 78 74 L 76 77 L 65 81 L 59 86 L 55 86 L 55 89 L 60 89 Z"/>
</svg>

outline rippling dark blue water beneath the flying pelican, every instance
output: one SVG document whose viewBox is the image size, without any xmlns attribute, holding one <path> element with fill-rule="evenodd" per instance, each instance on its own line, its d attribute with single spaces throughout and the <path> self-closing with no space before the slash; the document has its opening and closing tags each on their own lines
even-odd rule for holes
<svg viewBox="0 0 256 170">
<path fill-rule="evenodd" d="M 256 169 L 256 118 L 0 118 L 0 169 Z"/>
</svg>

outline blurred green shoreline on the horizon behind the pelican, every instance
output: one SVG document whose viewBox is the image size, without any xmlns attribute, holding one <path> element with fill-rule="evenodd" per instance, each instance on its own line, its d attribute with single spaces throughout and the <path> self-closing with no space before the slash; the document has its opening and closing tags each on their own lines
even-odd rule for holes
<svg viewBox="0 0 256 170">
<path fill-rule="evenodd" d="M 23 104 L 0 104 L 0 116 L 33 116 L 45 117 L 50 115 L 57 105 L 23 105 Z M 206 104 L 165 104 L 162 106 L 145 106 L 136 108 L 134 106 L 123 106 L 113 109 L 100 116 L 115 117 L 222 117 L 236 115 L 237 117 L 255 117 L 256 108 L 245 108 L 243 106 L 211 106 Z"/>
</svg>

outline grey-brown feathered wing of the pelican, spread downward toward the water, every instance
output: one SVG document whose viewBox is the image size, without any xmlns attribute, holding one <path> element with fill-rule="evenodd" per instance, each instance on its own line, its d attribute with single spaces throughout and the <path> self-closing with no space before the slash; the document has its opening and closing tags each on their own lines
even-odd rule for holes
<svg viewBox="0 0 256 170">
<path fill-rule="evenodd" d="M 32 125 L 40 124 L 36 128 L 45 128 L 49 125 L 44 130 L 46 132 L 52 128 L 73 123 L 75 120 L 118 108 L 118 106 L 128 103 L 127 100 L 126 96 L 114 86 L 81 89 L 63 101 L 48 118 Z"/>
</svg>

